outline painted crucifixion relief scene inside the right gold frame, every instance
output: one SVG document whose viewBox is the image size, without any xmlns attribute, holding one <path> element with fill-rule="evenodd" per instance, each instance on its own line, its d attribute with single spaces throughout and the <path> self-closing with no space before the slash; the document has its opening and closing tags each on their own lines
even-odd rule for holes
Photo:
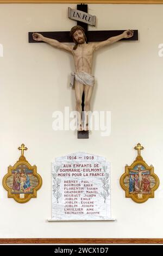
<svg viewBox="0 0 163 256">
<path fill-rule="evenodd" d="M 129 193 L 150 194 L 151 188 L 155 185 L 155 179 L 150 175 L 150 170 L 137 164 L 124 179 L 124 185 L 128 188 Z"/>
</svg>

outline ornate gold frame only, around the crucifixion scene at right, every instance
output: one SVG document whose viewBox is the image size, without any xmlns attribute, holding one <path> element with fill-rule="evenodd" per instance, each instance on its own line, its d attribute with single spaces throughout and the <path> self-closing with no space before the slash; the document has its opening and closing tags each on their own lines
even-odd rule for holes
<svg viewBox="0 0 163 256">
<path fill-rule="evenodd" d="M 125 167 L 125 173 L 121 176 L 120 179 L 120 184 L 123 190 L 126 192 L 126 197 L 130 197 L 133 199 L 136 203 L 144 203 L 148 200 L 148 198 L 154 198 L 154 191 L 158 188 L 159 186 L 159 178 L 158 176 L 154 173 L 154 167 L 148 166 L 148 164 L 143 160 L 140 150 L 143 149 L 140 143 L 137 144 L 137 147 L 135 147 L 136 150 L 138 150 L 138 155 L 135 159 L 135 161 L 131 164 L 131 166 L 126 165 Z M 129 193 L 129 189 L 124 185 L 124 179 L 126 176 L 129 175 L 130 170 L 132 170 L 136 165 L 142 165 L 146 168 L 146 170 L 149 170 L 150 176 L 153 176 L 155 179 L 155 185 L 154 187 L 151 188 L 151 193 L 150 194 L 141 194 L 142 198 L 139 198 L 138 194 L 139 193 Z"/>
</svg>

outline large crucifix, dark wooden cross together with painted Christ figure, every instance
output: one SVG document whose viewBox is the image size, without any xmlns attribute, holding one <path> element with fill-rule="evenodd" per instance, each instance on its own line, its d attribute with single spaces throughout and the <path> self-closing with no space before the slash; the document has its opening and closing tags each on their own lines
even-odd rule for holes
<svg viewBox="0 0 163 256">
<path fill-rule="evenodd" d="M 87 13 L 87 4 L 78 4 L 77 9 Z M 86 17 L 87 15 L 84 14 L 83 22 L 86 21 Z M 71 32 L 29 32 L 29 42 L 48 42 L 48 44 L 54 47 L 64 49 L 73 54 L 74 64 L 76 66 L 76 73 L 74 74 L 76 80 L 76 111 L 79 113 L 77 122 L 78 138 L 89 138 L 87 113 L 90 111 L 90 100 L 92 96 L 93 85 L 95 83 L 94 76 L 91 75 L 93 52 L 118 40 L 138 40 L 138 33 L 137 31 L 130 30 L 87 31 L 87 23 L 83 22 L 78 21 L 77 26 L 74 26 L 71 29 Z M 70 38 L 70 34 L 72 38 Z M 62 42 L 72 41 L 75 42 L 74 47 L 62 44 Z M 93 43 L 87 45 L 86 41 L 91 41 Z M 84 127 L 82 113 L 86 113 L 86 117 L 84 117 Z"/>
</svg>

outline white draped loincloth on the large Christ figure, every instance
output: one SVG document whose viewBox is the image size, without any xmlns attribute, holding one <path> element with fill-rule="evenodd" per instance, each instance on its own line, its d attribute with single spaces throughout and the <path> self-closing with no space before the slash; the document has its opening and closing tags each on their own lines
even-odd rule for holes
<svg viewBox="0 0 163 256">
<path fill-rule="evenodd" d="M 75 79 L 86 86 L 94 86 L 95 84 L 95 77 L 87 74 L 84 71 L 78 71 L 74 73 Z"/>
</svg>

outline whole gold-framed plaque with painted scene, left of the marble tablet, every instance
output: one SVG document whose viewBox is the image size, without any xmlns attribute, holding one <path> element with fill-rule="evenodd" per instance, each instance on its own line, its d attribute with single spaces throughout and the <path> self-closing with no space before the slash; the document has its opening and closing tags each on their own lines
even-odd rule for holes
<svg viewBox="0 0 163 256">
<path fill-rule="evenodd" d="M 42 185 L 41 176 L 37 173 L 37 167 L 31 166 L 24 156 L 28 148 L 24 144 L 18 147 L 21 156 L 14 166 L 8 167 L 8 173 L 3 177 L 3 186 L 8 191 L 8 197 L 14 198 L 18 203 L 26 203 L 32 197 L 37 196 L 37 190 Z"/>
</svg>

